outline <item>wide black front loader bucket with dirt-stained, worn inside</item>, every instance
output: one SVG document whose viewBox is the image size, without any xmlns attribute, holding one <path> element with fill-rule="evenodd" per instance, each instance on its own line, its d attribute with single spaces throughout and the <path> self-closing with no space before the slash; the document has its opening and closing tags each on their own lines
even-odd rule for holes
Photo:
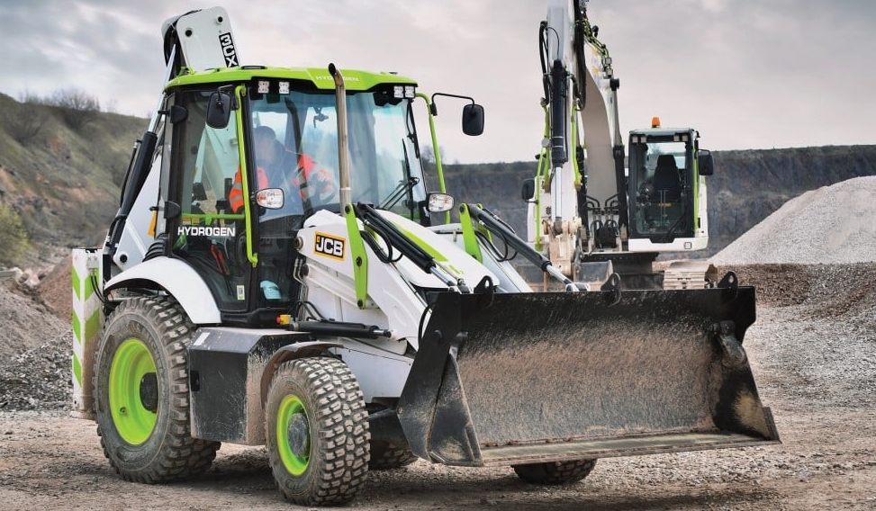
<svg viewBox="0 0 876 511">
<path fill-rule="evenodd" d="M 411 449 L 483 466 L 776 444 L 742 348 L 754 288 L 438 295 Z"/>
</svg>

